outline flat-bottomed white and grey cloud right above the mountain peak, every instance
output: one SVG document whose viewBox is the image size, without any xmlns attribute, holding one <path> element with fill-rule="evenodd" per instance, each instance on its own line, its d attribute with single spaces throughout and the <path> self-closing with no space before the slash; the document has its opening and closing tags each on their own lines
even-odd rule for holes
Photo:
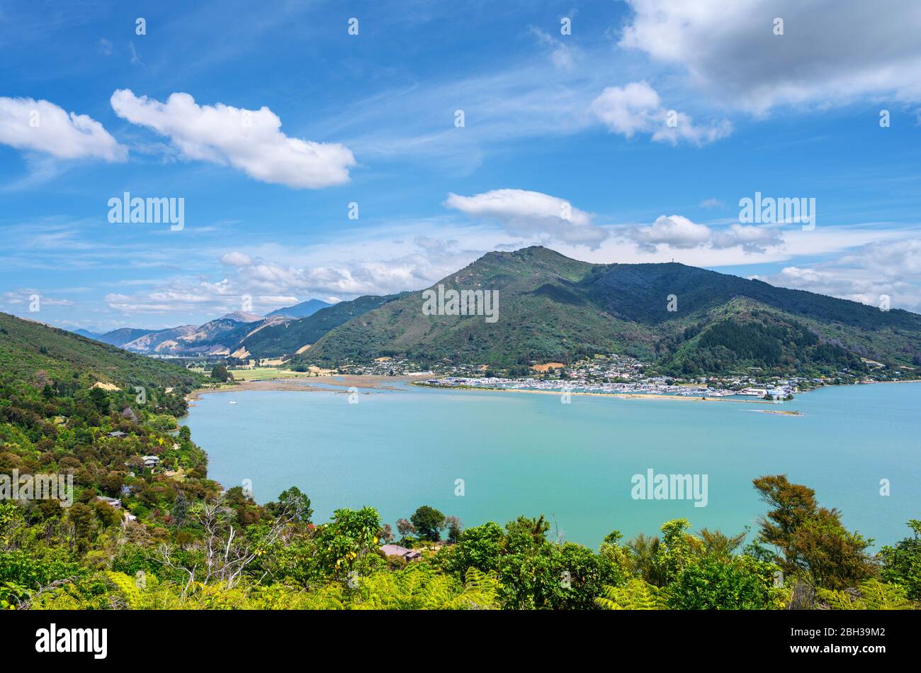
<svg viewBox="0 0 921 673">
<path fill-rule="evenodd" d="M 608 237 L 589 213 L 541 192 L 495 189 L 472 196 L 449 194 L 444 205 L 473 217 L 497 219 L 509 233 L 519 236 L 542 234 L 589 248 L 597 248 Z"/>
</svg>

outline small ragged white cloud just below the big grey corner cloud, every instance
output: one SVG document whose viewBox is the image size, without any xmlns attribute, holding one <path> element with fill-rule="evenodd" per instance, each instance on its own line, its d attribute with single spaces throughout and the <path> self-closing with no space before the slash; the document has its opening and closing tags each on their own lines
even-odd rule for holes
<svg viewBox="0 0 921 673">
<path fill-rule="evenodd" d="M 591 111 L 612 133 L 628 138 L 651 134 L 654 141 L 671 145 L 684 141 L 701 146 L 732 133 L 729 121 L 701 126 L 684 112 L 666 110 L 659 93 L 645 81 L 605 88 L 592 100 Z"/>
</svg>

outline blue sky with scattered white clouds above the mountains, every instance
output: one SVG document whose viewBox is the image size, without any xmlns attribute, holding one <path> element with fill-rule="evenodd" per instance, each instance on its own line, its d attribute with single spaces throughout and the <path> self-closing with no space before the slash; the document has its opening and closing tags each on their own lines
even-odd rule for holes
<svg viewBox="0 0 921 673">
<path fill-rule="evenodd" d="M 0 311 L 199 324 L 535 243 L 921 311 L 921 6 L 800 5 L 0 1 Z"/>
</svg>

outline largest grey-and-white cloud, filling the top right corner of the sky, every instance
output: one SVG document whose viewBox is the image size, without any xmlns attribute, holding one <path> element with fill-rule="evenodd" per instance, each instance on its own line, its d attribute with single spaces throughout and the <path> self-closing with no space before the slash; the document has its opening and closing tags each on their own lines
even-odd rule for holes
<svg viewBox="0 0 921 673">
<path fill-rule="evenodd" d="M 627 0 L 620 46 L 678 65 L 755 113 L 864 96 L 921 100 L 921 4 L 902 0 Z M 784 34 L 775 35 L 775 18 Z"/>
</svg>

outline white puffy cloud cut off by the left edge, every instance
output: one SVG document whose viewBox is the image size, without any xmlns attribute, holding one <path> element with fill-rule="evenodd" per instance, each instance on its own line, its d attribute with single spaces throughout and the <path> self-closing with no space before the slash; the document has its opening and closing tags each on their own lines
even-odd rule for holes
<svg viewBox="0 0 921 673">
<path fill-rule="evenodd" d="M 48 100 L 0 97 L 0 143 L 58 159 L 123 161 L 128 150 L 86 114 L 64 112 Z"/>
</svg>

